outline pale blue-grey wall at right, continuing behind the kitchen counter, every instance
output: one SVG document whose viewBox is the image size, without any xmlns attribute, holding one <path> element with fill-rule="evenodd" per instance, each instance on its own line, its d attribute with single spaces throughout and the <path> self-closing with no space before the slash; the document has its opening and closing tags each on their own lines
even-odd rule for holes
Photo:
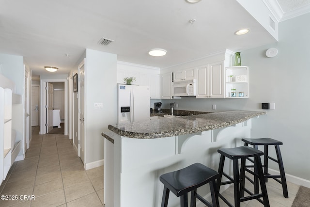
<svg viewBox="0 0 310 207">
<path fill-rule="evenodd" d="M 278 43 L 241 51 L 242 64 L 249 66 L 249 98 L 173 100 L 179 103 L 179 109 L 210 112 L 262 111 L 261 103 L 275 102 L 276 110 L 267 110 L 266 115 L 253 119 L 252 136 L 282 141 L 285 173 L 306 180 L 310 180 L 310 28 L 305 26 L 309 19 L 310 14 L 306 14 L 281 22 Z M 267 58 L 265 51 L 272 47 L 279 53 Z M 162 102 L 163 108 L 169 109 L 172 100 Z M 212 110 L 212 104 L 217 110 Z M 270 163 L 271 168 L 278 169 Z"/>
</svg>

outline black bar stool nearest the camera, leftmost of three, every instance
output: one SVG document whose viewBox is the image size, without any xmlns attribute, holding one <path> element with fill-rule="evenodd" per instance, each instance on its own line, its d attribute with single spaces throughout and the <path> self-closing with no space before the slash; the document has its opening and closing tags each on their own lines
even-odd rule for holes
<svg viewBox="0 0 310 207">
<path fill-rule="evenodd" d="M 164 184 L 164 192 L 161 207 L 167 207 L 169 192 L 181 197 L 181 207 L 187 207 L 187 192 L 191 191 L 190 206 L 196 207 L 196 198 L 208 207 L 219 207 L 216 191 L 216 179 L 218 173 L 201 163 L 189 165 L 186 168 L 171 173 L 160 175 L 159 180 Z M 197 188 L 209 183 L 212 204 L 197 194 Z"/>
</svg>

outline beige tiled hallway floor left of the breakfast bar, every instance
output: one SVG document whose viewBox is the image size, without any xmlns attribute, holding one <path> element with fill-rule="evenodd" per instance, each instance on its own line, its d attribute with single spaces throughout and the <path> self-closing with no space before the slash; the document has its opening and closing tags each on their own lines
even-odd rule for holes
<svg viewBox="0 0 310 207">
<path fill-rule="evenodd" d="M 0 195 L 16 198 L 1 207 L 103 207 L 103 166 L 85 171 L 68 136 L 32 127 L 26 158 L 14 162 Z"/>
</svg>

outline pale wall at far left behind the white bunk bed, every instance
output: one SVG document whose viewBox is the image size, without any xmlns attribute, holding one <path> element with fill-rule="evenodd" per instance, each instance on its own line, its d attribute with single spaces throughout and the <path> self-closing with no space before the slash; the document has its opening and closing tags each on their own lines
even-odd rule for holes
<svg viewBox="0 0 310 207">
<path fill-rule="evenodd" d="M 17 55 L 0 54 L 2 75 L 12 80 L 16 85 L 16 94 L 24 100 L 24 58 Z M 16 130 L 16 142 L 23 140 L 24 106 L 20 104 L 12 106 L 12 128 Z M 19 155 L 22 155 L 22 150 Z"/>
</svg>

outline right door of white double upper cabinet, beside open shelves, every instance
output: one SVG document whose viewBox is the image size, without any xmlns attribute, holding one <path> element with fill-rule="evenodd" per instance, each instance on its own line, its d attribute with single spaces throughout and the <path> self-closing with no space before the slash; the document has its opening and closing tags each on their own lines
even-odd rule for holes
<svg viewBox="0 0 310 207">
<path fill-rule="evenodd" d="M 224 68 L 222 62 L 209 64 L 209 96 L 224 98 Z"/>
</svg>

